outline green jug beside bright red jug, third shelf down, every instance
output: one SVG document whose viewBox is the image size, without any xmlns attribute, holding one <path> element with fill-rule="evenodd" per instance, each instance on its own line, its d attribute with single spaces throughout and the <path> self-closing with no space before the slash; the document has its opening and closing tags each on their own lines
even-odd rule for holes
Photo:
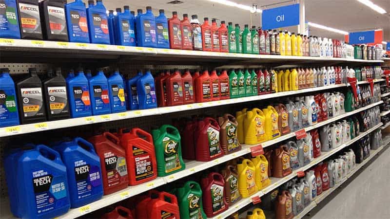
<svg viewBox="0 0 390 219">
<path fill-rule="evenodd" d="M 157 175 L 167 176 L 186 168 L 181 157 L 179 131 L 170 125 L 152 130 L 156 149 Z"/>
</svg>

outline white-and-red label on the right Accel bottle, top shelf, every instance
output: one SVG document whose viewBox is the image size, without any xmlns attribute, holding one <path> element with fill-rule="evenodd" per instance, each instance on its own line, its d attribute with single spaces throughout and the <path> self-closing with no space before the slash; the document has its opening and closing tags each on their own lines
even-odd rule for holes
<svg viewBox="0 0 390 219">
<path fill-rule="evenodd" d="M 47 12 L 49 13 L 50 33 L 66 36 L 68 31 L 66 30 L 65 10 L 48 5 Z"/>
</svg>

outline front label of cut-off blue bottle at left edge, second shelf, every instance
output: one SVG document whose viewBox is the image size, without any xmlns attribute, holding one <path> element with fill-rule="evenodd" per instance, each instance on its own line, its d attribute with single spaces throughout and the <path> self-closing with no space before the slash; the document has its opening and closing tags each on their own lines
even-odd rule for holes
<svg viewBox="0 0 390 219">
<path fill-rule="evenodd" d="M 0 120 L 16 119 L 18 116 L 17 110 L 15 90 L 0 90 Z"/>
</svg>

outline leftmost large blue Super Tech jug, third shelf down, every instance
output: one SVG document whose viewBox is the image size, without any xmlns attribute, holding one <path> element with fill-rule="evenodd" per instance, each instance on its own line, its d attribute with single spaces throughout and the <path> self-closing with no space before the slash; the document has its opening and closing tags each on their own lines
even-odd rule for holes
<svg viewBox="0 0 390 219">
<path fill-rule="evenodd" d="M 20 218 L 47 219 L 70 208 L 66 166 L 57 151 L 44 145 L 14 157 Z"/>
</svg>

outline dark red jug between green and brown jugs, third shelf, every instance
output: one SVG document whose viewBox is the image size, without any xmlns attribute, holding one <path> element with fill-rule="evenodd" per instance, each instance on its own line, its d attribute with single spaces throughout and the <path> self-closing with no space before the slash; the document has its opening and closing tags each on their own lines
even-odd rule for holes
<svg viewBox="0 0 390 219">
<path fill-rule="evenodd" d="M 213 118 L 206 117 L 198 122 L 195 130 L 197 161 L 211 161 L 223 155 L 219 131 L 220 127 Z"/>
</svg>

